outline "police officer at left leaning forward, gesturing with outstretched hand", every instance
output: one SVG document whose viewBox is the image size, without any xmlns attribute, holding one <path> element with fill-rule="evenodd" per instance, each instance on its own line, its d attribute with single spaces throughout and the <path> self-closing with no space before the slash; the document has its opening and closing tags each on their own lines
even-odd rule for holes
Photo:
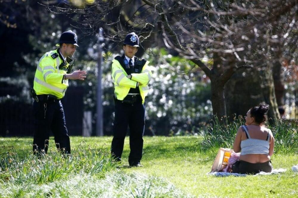
<svg viewBox="0 0 298 198">
<path fill-rule="evenodd" d="M 67 134 L 61 98 L 68 87 L 68 79 L 84 80 L 86 71 L 71 73 L 71 57 L 75 53 L 77 35 L 72 31 L 63 32 L 58 49 L 46 52 L 38 62 L 32 89 L 35 132 L 33 153 L 47 153 L 50 131 L 62 153 L 70 154 L 70 141 Z"/>
</svg>

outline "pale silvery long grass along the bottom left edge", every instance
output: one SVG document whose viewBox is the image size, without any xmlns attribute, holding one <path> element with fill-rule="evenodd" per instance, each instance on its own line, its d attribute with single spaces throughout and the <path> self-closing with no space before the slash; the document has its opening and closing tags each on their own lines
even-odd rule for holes
<svg viewBox="0 0 298 198">
<path fill-rule="evenodd" d="M 109 172 L 104 178 L 87 174 L 52 183 L 6 183 L 0 197 L 189 197 L 161 177 L 135 172 Z"/>
</svg>

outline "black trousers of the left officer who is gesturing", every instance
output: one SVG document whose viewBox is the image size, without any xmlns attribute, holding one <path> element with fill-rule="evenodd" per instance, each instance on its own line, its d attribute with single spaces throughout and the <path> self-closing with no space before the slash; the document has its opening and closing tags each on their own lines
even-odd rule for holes
<svg viewBox="0 0 298 198">
<path fill-rule="evenodd" d="M 52 131 L 57 149 L 70 154 L 70 140 L 61 101 L 34 101 L 33 114 L 35 124 L 33 153 L 47 153 Z"/>
</svg>

